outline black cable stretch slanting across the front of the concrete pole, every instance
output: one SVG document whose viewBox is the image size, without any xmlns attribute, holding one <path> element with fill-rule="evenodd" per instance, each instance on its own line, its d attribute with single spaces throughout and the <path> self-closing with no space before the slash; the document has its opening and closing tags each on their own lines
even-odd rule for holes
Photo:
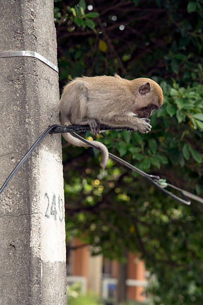
<svg viewBox="0 0 203 305">
<path fill-rule="evenodd" d="M 54 128 L 58 127 L 60 125 L 55 124 L 55 125 L 51 125 L 50 127 L 48 127 L 43 134 L 41 134 L 41 136 L 37 139 L 37 141 L 33 144 L 33 146 L 29 149 L 28 152 L 26 152 L 26 154 L 22 157 L 22 159 L 19 161 L 19 163 L 15 166 L 15 168 L 12 170 L 12 172 L 9 174 L 9 176 L 7 177 L 7 179 L 5 180 L 5 182 L 3 183 L 3 185 L 0 188 L 0 194 L 2 193 L 2 191 L 4 190 L 4 188 L 6 187 L 6 185 L 8 184 L 8 182 L 12 179 L 12 177 L 14 176 L 14 174 L 16 173 L 16 171 L 20 168 L 20 166 L 27 160 L 27 158 L 29 157 L 29 155 L 38 147 L 38 145 L 42 142 L 42 140 L 46 137 L 47 134 L 50 133 L 50 131 L 52 131 Z"/>
</svg>

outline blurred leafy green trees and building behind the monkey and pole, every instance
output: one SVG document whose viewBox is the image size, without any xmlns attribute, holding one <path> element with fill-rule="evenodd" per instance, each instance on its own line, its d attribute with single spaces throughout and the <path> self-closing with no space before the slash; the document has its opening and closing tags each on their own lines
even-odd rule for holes
<svg viewBox="0 0 203 305">
<path fill-rule="evenodd" d="M 164 93 L 150 134 L 82 136 L 203 197 L 203 0 L 54 3 L 61 92 L 75 77 L 118 73 Z M 68 305 L 202 305 L 201 203 L 99 159 L 63 139 Z"/>
</svg>

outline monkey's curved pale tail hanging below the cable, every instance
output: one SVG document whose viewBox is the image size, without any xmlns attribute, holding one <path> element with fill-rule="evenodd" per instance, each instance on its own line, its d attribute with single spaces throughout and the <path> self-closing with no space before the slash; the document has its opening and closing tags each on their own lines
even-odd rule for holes
<svg viewBox="0 0 203 305">
<path fill-rule="evenodd" d="M 71 125 L 70 121 L 68 120 L 68 118 L 64 118 L 63 116 L 61 116 L 61 124 L 64 125 Z M 80 146 L 80 147 L 89 147 L 89 145 L 87 145 L 86 143 L 80 141 L 79 139 L 73 137 L 72 135 L 70 135 L 69 133 L 63 134 L 64 139 L 75 146 Z M 106 148 L 106 146 L 104 144 L 102 144 L 101 142 L 98 141 L 88 141 L 91 142 L 92 144 L 95 144 L 98 148 L 100 148 L 101 150 L 101 161 L 100 161 L 100 165 L 102 168 L 106 167 L 108 158 L 109 158 L 109 152 L 108 149 Z"/>
</svg>

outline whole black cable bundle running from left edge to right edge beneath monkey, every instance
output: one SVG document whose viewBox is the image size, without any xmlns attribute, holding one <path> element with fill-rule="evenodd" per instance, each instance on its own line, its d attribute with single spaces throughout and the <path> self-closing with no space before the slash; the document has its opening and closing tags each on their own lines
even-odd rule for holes
<svg viewBox="0 0 203 305">
<path fill-rule="evenodd" d="M 115 130 L 115 129 L 121 129 L 121 128 L 110 128 L 109 126 L 105 126 L 102 125 L 100 130 Z M 122 128 L 123 129 L 123 128 Z M 129 128 L 124 128 L 129 130 Z M 78 138 L 79 140 L 81 140 L 82 142 L 88 144 L 88 146 L 91 146 L 92 148 L 100 151 L 100 149 L 91 143 L 91 141 L 87 141 L 85 139 L 83 139 L 82 137 L 80 137 L 79 135 L 77 135 L 75 133 L 75 131 L 78 132 L 84 132 L 84 131 L 89 131 L 89 127 L 88 126 L 61 126 L 58 124 L 55 125 L 51 125 L 50 127 L 48 127 L 43 133 L 42 135 L 37 139 L 37 141 L 33 144 L 33 146 L 29 149 L 28 152 L 26 152 L 26 154 L 22 157 L 22 159 L 18 162 L 18 164 L 15 166 L 15 168 L 12 170 L 12 172 L 10 173 L 10 175 L 7 177 L 7 179 L 5 180 L 5 182 L 3 183 L 3 185 L 0 188 L 0 194 L 2 193 L 2 191 L 5 189 L 5 187 L 7 186 L 7 184 L 9 183 L 9 181 L 12 179 L 12 177 L 14 176 L 14 174 L 18 171 L 18 169 L 20 168 L 20 166 L 26 161 L 26 159 L 29 157 L 29 155 L 38 147 L 38 145 L 42 142 L 42 140 L 48 135 L 48 134 L 56 134 L 56 133 L 67 133 L 69 132 L 72 136 Z M 130 164 L 129 162 L 121 159 L 120 157 L 116 156 L 113 153 L 109 152 L 109 156 L 121 163 L 122 165 L 124 165 L 125 167 L 128 167 L 134 171 L 136 171 L 138 174 L 140 174 L 142 177 L 146 178 L 151 184 L 153 184 L 154 186 L 156 186 L 158 189 L 160 189 L 161 191 L 163 191 L 165 194 L 167 194 L 168 196 L 172 197 L 175 200 L 178 200 L 179 202 L 186 204 L 186 205 L 190 205 L 191 201 L 189 198 L 197 200 L 201 203 L 203 203 L 203 198 L 194 195 L 188 191 L 185 191 L 181 188 L 178 188 L 175 185 L 172 185 L 170 183 L 167 183 L 165 179 L 161 179 L 159 176 L 156 175 L 151 175 L 151 174 L 147 174 L 144 171 L 140 170 L 139 168 L 135 167 L 134 165 Z M 165 187 L 170 186 L 178 191 L 181 192 L 182 196 L 184 199 L 174 195 L 173 193 L 167 191 L 165 189 Z"/>
</svg>

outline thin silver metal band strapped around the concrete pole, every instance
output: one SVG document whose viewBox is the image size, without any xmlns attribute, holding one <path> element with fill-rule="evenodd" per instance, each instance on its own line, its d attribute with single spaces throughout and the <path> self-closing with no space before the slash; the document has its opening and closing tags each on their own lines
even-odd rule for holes
<svg viewBox="0 0 203 305">
<path fill-rule="evenodd" d="M 59 73 L 59 68 L 54 65 L 51 61 L 49 61 L 44 56 L 40 55 L 37 52 L 34 51 L 7 51 L 7 52 L 0 52 L 0 57 L 16 57 L 16 56 L 28 56 L 28 57 L 35 57 L 44 63 L 46 63 L 48 66 L 50 66 L 52 69 L 54 69 L 57 73 Z"/>
</svg>

